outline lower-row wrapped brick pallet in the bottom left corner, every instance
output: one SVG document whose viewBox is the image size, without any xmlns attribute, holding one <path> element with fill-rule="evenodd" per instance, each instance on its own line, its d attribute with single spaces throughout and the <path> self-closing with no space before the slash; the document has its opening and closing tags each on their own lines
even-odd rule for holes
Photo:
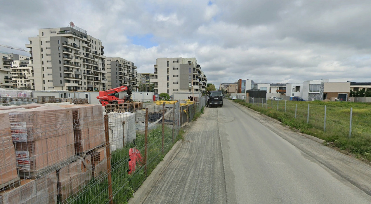
<svg viewBox="0 0 371 204">
<path fill-rule="evenodd" d="M 0 191 L 0 204 L 57 203 L 57 173 L 52 171 L 41 178 L 23 179 L 19 187 Z"/>
</svg>

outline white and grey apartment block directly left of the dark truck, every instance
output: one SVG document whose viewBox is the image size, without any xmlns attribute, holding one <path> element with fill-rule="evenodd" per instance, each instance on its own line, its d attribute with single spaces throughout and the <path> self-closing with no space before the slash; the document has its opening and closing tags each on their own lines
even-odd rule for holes
<svg viewBox="0 0 371 204">
<path fill-rule="evenodd" d="M 155 93 L 204 92 L 207 78 L 196 58 L 157 58 L 154 65 Z"/>
</svg>

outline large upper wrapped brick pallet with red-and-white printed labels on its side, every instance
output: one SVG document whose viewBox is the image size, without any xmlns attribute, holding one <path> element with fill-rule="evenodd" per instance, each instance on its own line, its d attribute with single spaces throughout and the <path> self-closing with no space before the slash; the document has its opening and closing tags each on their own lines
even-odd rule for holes
<svg viewBox="0 0 371 204">
<path fill-rule="evenodd" d="M 59 106 L 9 110 L 20 177 L 73 161 L 72 111 Z"/>
</svg>

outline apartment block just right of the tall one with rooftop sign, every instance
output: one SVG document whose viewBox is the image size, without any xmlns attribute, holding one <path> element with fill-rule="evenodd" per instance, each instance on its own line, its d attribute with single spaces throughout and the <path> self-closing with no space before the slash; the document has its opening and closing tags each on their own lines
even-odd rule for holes
<svg viewBox="0 0 371 204">
<path fill-rule="evenodd" d="M 105 63 L 109 89 L 119 86 L 131 86 L 132 91 L 138 89 L 137 67 L 121 57 L 107 57 Z"/>
</svg>

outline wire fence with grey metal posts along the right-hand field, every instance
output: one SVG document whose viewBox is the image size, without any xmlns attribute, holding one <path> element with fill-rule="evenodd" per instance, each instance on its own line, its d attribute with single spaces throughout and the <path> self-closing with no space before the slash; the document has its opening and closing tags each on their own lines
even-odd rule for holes
<svg viewBox="0 0 371 204">
<path fill-rule="evenodd" d="M 246 101 L 272 111 L 285 112 L 286 118 L 295 118 L 296 121 L 310 124 L 313 128 L 323 129 L 324 132 L 371 138 L 371 128 L 368 125 L 371 122 L 371 109 L 367 107 L 339 106 L 341 102 L 337 102 L 337 105 L 319 105 L 251 97 Z"/>
</svg>

